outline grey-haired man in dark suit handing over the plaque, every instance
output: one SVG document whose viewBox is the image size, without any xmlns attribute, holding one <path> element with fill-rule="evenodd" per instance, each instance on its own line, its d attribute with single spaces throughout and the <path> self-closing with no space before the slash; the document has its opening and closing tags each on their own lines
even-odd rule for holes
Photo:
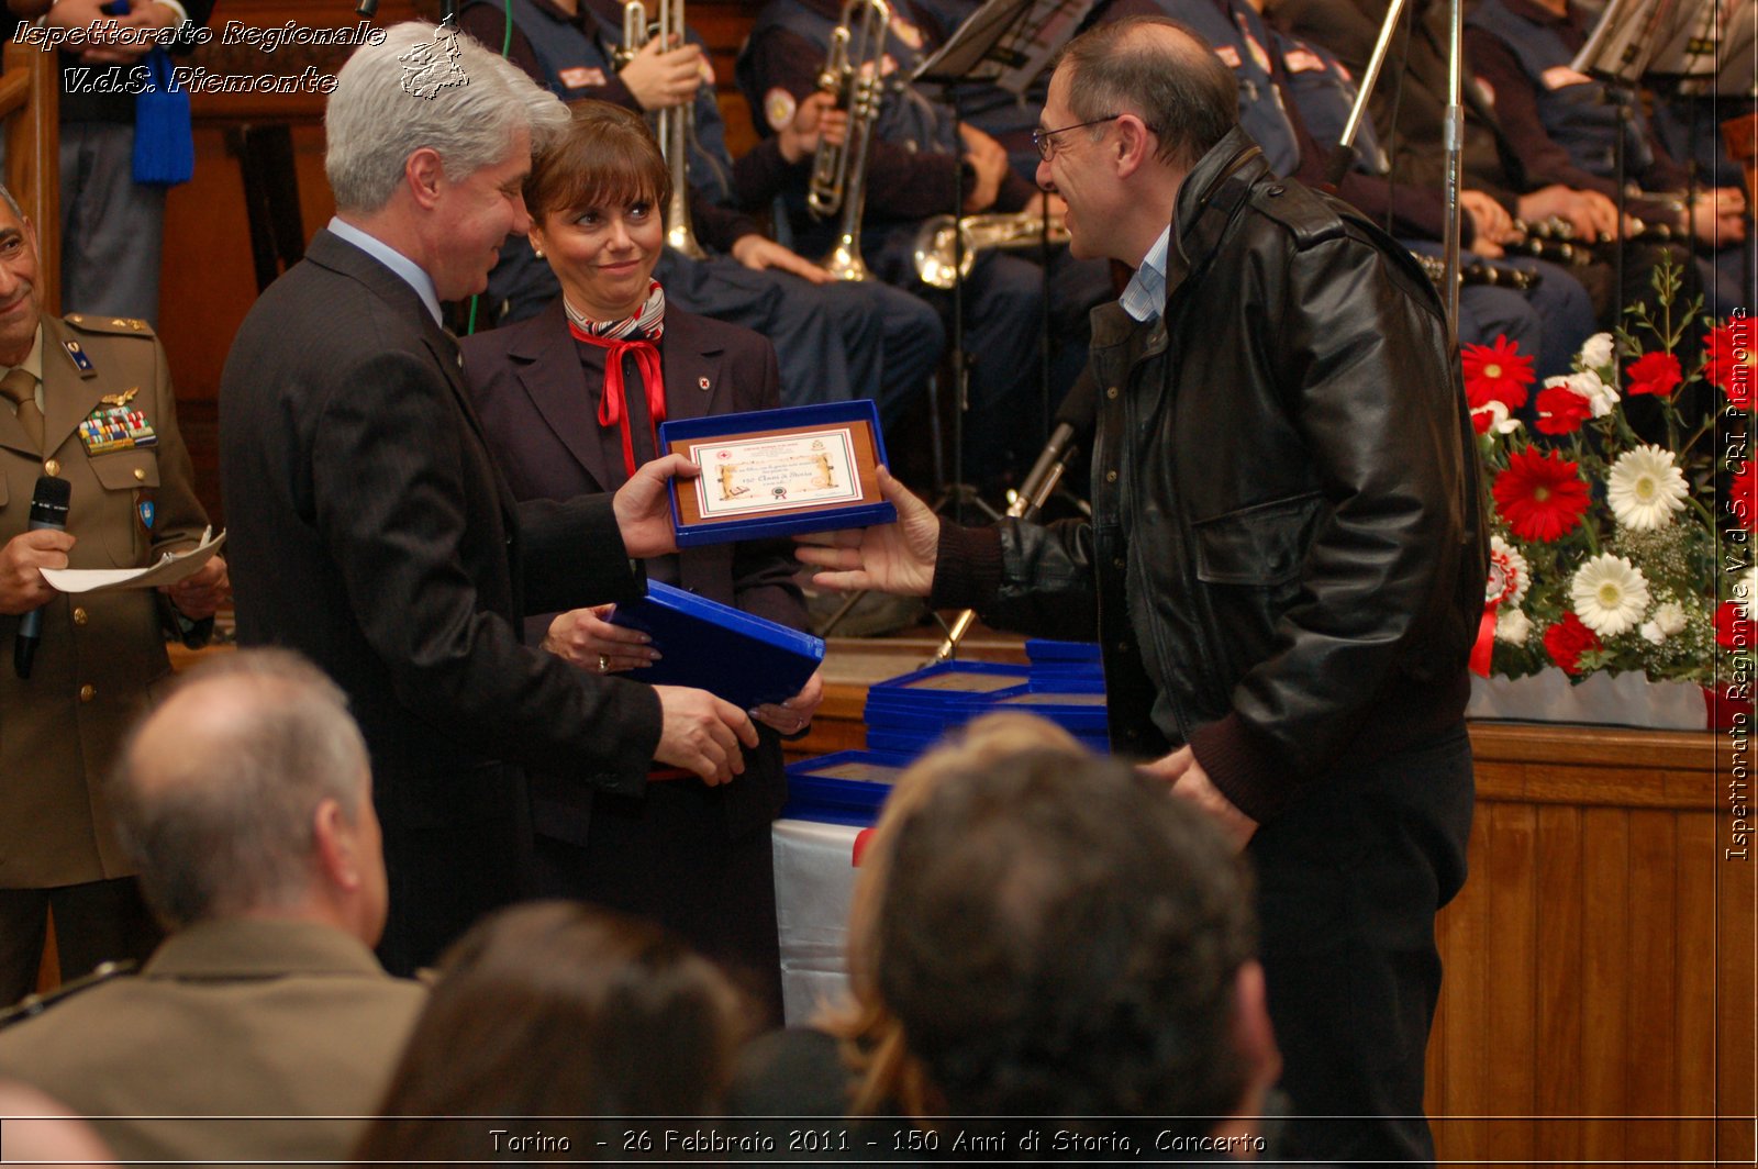
<svg viewBox="0 0 1758 1169">
<path fill-rule="evenodd" d="M 531 148 L 566 109 L 468 37 L 408 23 L 329 98 L 336 218 L 239 329 L 220 469 L 244 643 L 304 650 L 350 694 L 390 868 L 381 956 L 431 962 L 529 888 L 522 768 L 640 795 L 650 761 L 726 782 L 749 717 L 703 691 L 601 677 L 520 643 L 526 612 L 631 599 L 675 550 L 666 478 L 515 503 L 440 302 L 480 292 L 531 220 Z"/>
</svg>

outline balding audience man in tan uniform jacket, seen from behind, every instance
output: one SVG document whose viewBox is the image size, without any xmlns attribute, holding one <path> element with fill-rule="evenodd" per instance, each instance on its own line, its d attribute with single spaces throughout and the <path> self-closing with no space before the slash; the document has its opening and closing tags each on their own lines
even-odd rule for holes
<svg viewBox="0 0 1758 1169">
<path fill-rule="evenodd" d="M 137 977 L 26 1000 L 0 1078 L 123 1162 L 341 1158 L 425 1002 L 369 949 L 385 861 L 346 698 L 297 654 L 225 654 L 135 728 L 111 786 L 171 937 Z"/>
</svg>

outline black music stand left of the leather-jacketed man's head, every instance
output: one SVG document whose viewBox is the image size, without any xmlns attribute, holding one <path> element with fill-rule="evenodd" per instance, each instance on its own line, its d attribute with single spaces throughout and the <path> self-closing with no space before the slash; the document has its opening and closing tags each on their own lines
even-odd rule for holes
<svg viewBox="0 0 1758 1169">
<path fill-rule="evenodd" d="M 911 84 L 937 84 L 953 109 L 953 142 L 960 142 L 962 114 L 958 86 L 981 81 L 1002 84 L 1023 93 L 1037 79 L 1050 58 L 1074 35 L 1074 30 L 1093 7 L 1093 0 L 984 0 L 946 39 L 939 49 L 911 72 Z M 953 225 L 965 216 L 963 167 L 953 183 Z M 1048 237 L 1044 241 L 1048 244 Z M 953 476 L 942 487 L 935 510 L 951 506 L 953 519 L 963 520 L 965 503 L 981 508 L 988 519 L 997 513 L 963 482 L 965 468 L 965 408 L 970 401 L 970 362 L 965 355 L 965 239 L 953 232 Z M 1042 346 L 1050 345 L 1050 265 L 1044 264 L 1044 316 Z M 1050 415 L 1050 357 L 1039 350 L 1041 411 Z"/>
</svg>

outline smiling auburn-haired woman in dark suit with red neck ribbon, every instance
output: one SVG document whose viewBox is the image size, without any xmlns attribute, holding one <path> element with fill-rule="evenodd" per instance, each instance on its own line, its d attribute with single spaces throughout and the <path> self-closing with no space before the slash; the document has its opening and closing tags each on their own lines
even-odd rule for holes
<svg viewBox="0 0 1758 1169">
<path fill-rule="evenodd" d="M 654 280 L 672 176 L 638 114 L 582 100 L 526 183 L 531 243 L 561 295 L 531 320 L 466 338 L 466 373 L 490 450 L 519 501 L 614 492 L 657 457 L 666 418 L 774 410 L 775 350 L 724 322 L 686 313 Z M 805 606 L 788 545 L 742 541 L 650 557 L 649 578 L 793 628 Z M 543 614 L 527 635 L 596 673 L 645 666 L 657 650 L 605 608 Z M 689 652 L 689 647 L 666 647 Z M 665 765 L 665 782 L 594 793 L 570 773 L 533 779 L 538 886 L 677 930 L 752 979 L 781 1021 L 781 949 L 770 823 L 788 798 L 781 735 L 812 721 L 814 675 L 786 705 L 752 710 L 763 728 L 744 773 L 703 784 Z"/>
</svg>

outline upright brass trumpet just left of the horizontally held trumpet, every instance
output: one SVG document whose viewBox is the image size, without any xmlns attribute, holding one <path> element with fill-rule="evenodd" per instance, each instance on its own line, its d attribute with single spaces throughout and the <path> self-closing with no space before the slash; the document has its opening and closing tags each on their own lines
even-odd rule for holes
<svg viewBox="0 0 1758 1169">
<path fill-rule="evenodd" d="M 860 26 L 856 26 L 860 19 Z M 812 183 L 805 206 L 814 218 L 842 213 L 837 243 L 823 267 L 837 280 L 867 280 L 861 260 L 861 214 L 867 209 L 867 153 L 884 83 L 884 35 L 891 9 L 884 0 L 847 0 L 842 21 L 830 35 L 830 53 L 817 74 L 817 86 L 837 95 L 837 105 L 849 113 L 849 134 L 842 146 L 819 141 L 812 156 Z"/>
</svg>

